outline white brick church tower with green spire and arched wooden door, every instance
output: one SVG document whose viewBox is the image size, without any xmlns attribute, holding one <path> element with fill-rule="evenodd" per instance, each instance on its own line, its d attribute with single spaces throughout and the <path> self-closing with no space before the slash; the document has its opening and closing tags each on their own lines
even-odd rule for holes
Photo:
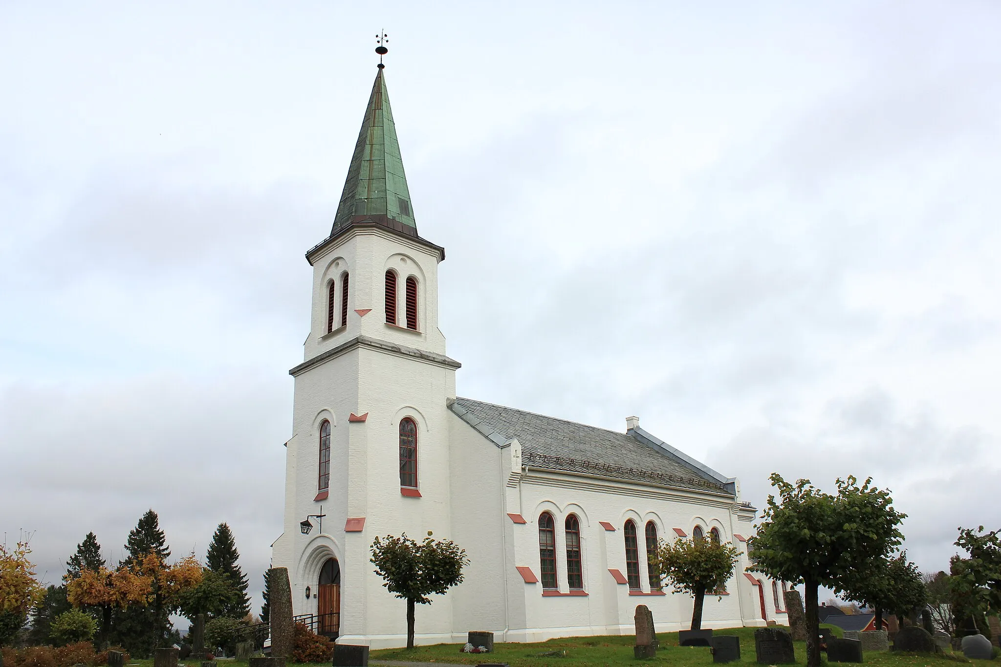
<svg viewBox="0 0 1001 667">
<path fill-rule="evenodd" d="M 444 249 L 417 233 L 378 67 L 330 235 L 306 252 L 312 314 L 289 371 L 294 435 L 273 545 L 294 613 L 348 643 L 398 633 L 395 613 L 375 613 L 394 603 L 371 573 L 373 537 L 449 533 L 447 402 L 459 367 L 437 328 Z M 432 607 L 422 626 L 449 632 L 449 603 Z"/>
</svg>

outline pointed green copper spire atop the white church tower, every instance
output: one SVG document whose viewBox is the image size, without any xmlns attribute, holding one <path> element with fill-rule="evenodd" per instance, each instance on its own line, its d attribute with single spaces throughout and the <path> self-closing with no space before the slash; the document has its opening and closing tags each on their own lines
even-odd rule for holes
<svg viewBox="0 0 1001 667">
<path fill-rule="evenodd" d="M 366 220 L 411 236 L 417 234 L 382 72 L 380 66 L 330 236 Z"/>
</svg>

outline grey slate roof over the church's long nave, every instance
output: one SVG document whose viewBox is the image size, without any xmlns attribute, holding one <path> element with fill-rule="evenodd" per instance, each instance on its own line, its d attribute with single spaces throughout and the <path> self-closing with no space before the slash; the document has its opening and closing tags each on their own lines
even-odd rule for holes
<svg viewBox="0 0 1001 667">
<path fill-rule="evenodd" d="M 627 433 L 469 398 L 456 398 L 449 407 L 498 446 L 518 438 L 522 461 L 533 468 L 733 495 L 725 484 Z"/>
</svg>

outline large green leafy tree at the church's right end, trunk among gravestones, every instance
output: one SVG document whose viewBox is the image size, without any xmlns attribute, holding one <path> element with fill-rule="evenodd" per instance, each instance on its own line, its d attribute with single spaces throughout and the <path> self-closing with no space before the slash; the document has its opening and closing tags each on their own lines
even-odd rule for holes
<svg viewBox="0 0 1001 667">
<path fill-rule="evenodd" d="M 752 570 L 773 579 L 804 583 L 807 665 L 820 667 L 817 594 L 820 586 L 846 590 L 859 563 L 887 558 L 900 544 L 897 526 L 906 515 L 893 508 L 889 491 L 860 487 L 855 477 L 838 479 L 837 495 L 801 479 L 791 484 L 770 477 L 781 502 L 768 497 L 758 534 L 749 540 Z"/>
</svg>

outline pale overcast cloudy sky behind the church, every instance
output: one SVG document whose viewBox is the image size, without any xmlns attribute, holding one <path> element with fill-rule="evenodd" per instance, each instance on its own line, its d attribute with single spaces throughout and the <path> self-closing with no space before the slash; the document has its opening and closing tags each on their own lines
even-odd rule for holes
<svg viewBox="0 0 1001 667">
<path fill-rule="evenodd" d="M 1001 528 L 1001 7 L 0 1 L 0 530 L 281 532 L 374 34 L 460 395 Z M 259 605 L 259 600 L 257 602 Z"/>
</svg>

